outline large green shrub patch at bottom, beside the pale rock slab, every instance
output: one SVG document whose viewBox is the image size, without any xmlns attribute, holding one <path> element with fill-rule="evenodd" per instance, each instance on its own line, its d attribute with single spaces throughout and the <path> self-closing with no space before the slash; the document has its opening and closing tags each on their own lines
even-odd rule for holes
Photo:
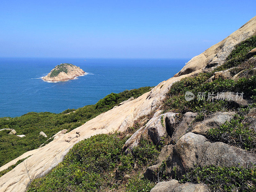
<svg viewBox="0 0 256 192">
<path fill-rule="evenodd" d="M 33 180 L 28 191 L 101 191 L 110 186 L 110 172 L 120 162 L 124 142 L 118 133 L 80 141 L 49 174 Z"/>
</svg>

